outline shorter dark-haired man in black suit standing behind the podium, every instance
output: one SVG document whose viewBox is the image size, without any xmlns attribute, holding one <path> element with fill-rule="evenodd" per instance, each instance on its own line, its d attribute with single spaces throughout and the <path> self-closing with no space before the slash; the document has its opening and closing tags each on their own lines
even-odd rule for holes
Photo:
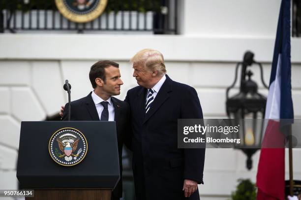
<svg viewBox="0 0 301 200">
<path fill-rule="evenodd" d="M 122 145 L 128 139 L 125 134 L 129 127 L 128 103 L 112 97 L 120 94 L 120 86 L 123 84 L 119 64 L 99 61 L 90 68 L 89 78 L 94 90 L 87 97 L 71 102 L 71 120 L 116 122 L 120 181 L 112 192 L 112 200 L 119 200 L 122 197 Z M 68 103 L 65 107 L 68 107 Z M 62 120 L 67 119 L 67 110 L 63 110 Z"/>
</svg>

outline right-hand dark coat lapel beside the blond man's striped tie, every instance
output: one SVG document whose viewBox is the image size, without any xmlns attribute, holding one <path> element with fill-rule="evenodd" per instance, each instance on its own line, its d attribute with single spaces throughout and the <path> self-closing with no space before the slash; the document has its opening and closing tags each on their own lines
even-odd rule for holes
<svg viewBox="0 0 301 200">
<path fill-rule="evenodd" d="M 169 93 L 172 91 L 172 80 L 166 75 L 166 80 L 160 88 L 156 98 L 151 104 L 151 108 L 146 113 L 143 124 L 159 109 L 159 107 L 169 98 Z M 145 105 L 144 105 L 145 107 Z M 144 109 L 145 113 L 145 109 Z"/>
</svg>

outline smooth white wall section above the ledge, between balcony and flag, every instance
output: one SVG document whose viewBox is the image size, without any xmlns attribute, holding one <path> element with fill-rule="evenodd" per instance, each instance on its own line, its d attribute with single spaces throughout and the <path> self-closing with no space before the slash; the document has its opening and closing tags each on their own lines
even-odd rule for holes
<svg viewBox="0 0 301 200">
<path fill-rule="evenodd" d="M 281 0 L 183 0 L 182 3 L 183 34 L 262 37 L 275 35 Z"/>
</svg>

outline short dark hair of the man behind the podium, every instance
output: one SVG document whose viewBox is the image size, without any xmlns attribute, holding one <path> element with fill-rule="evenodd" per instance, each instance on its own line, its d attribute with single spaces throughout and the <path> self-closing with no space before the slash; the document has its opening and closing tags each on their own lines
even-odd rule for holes
<svg viewBox="0 0 301 200">
<path fill-rule="evenodd" d="M 105 60 L 105 61 L 98 61 L 97 63 L 91 66 L 89 78 L 93 88 L 96 88 L 96 83 L 95 83 L 96 78 L 101 78 L 103 82 L 106 83 L 105 68 L 110 66 L 119 67 L 119 64 L 113 61 Z"/>
</svg>

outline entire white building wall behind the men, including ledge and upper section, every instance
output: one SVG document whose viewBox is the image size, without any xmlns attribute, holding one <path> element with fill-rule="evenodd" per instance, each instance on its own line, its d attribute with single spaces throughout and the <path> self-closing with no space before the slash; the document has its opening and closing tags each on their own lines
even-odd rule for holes
<svg viewBox="0 0 301 200">
<path fill-rule="evenodd" d="M 161 51 L 170 77 L 196 88 L 205 118 L 226 118 L 225 92 L 243 53 L 251 50 L 263 62 L 269 82 L 280 0 L 182 0 L 181 35 L 0 34 L 0 189 L 16 188 L 16 160 L 20 122 L 43 120 L 67 101 L 65 79 L 72 100 L 90 90 L 88 72 L 100 59 L 120 63 L 121 95 L 135 86 L 128 60 L 143 48 Z M 295 117 L 301 118 L 301 39 L 292 38 L 292 95 Z M 252 67 L 260 92 L 259 70 Z M 301 179 L 301 151 L 294 151 L 294 177 Z M 207 149 L 202 199 L 226 199 L 238 178 L 256 178 L 253 169 L 233 149 Z M 287 165 L 287 162 L 286 162 Z M 286 167 L 288 178 L 288 167 Z"/>
</svg>

